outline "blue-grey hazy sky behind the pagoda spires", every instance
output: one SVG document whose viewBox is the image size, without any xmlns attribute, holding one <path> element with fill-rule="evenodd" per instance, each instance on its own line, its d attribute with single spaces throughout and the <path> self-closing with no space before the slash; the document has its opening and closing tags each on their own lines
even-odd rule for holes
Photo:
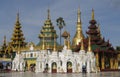
<svg viewBox="0 0 120 77">
<path fill-rule="evenodd" d="M 63 17 L 65 29 L 70 32 L 71 40 L 76 32 L 78 8 L 81 11 L 85 36 L 93 8 L 102 37 L 106 41 L 109 40 L 112 46 L 120 46 L 120 0 L 0 0 L 0 45 L 3 44 L 4 36 L 7 42 L 11 41 L 18 12 L 25 41 L 37 44 L 38 35 L 47 19 L 48 8 L 57 34 L 59 35 L 59 29 L 56 19 Z M 59 38 L 57 41 L 59 42 Z"/>
</svg>

